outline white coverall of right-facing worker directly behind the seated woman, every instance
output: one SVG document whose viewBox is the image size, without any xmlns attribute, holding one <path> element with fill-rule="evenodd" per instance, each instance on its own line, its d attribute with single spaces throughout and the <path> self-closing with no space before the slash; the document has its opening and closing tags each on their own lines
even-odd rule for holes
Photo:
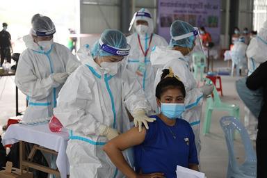
<svg viewBox="0 0 267 178">
<path fill-rule="evenodd" d="M 153 67 L 158 68 L 154 83 L 154 93 L 157 84 L 161 81 L 163 69 L 169 69 L 169 67 L 171 67 L 175 75 L 184 83 L 184 87 L 186 88 L 186 111 L 183 113 L 182 118 L 191 124 L 195 133 L 197 154 L 199 155 L 201 149 L 200 118 L 202 113 L 203 93 L 197 88 L 197 83 L 189 70 L 188 63 L 180 51 L 171 50 L 168 47 L 156 47 L 151 54 L 151 63 Z M 155 111 L 159 111 L 157 107 L 156 103 L 152 105 Z"/>
</svg>

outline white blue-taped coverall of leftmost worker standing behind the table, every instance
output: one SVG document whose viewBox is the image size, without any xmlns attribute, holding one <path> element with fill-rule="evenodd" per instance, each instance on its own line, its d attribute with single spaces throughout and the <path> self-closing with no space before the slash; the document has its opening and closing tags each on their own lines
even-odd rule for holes
<svg viewBox="0 0 267 178">
<path fill-rule="evenodd" d="M 24 42 L 27 49 L 19 56 L 15 75 L 17 88 L 27 96 L 29 102 L 22 120 L 49 120 L 63 86 L 54 81 L 53 75 L 60 72 L 70 74 L 81 63 L 62 44 L 53 42 L 49 51 L 42 51 L 31 35 L 24 36 Z"/>
</svg>

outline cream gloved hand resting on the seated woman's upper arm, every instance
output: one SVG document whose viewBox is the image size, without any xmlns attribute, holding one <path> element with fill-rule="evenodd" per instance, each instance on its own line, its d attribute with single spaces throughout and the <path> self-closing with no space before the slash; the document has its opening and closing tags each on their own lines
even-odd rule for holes
<svg viewBox="0 0 267 178">
<path fill-rule="evenodd" d="M 145 115 L 145 110 L 143 109 L 133 111 L 133 123 L 135 127 L 139 128 L 139 131 L 142 131 L 142 123 L 145 125 L 145 128 L 148 129 L 147 122 L 154 122 L 154 120 L 156 119 L 148 118 L 147 115 Z"/>
</svg>

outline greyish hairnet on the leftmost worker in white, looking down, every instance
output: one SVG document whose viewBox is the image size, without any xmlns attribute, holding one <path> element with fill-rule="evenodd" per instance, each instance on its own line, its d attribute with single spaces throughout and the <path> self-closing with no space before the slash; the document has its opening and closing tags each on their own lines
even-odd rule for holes
<svg viewBox="0 0 267 178">
<path fill-rule="evenodd" d="M 47 16 L 42 16 L 40 14 L 33 15 L 31 24 L 33 25 L 33 30 L 36 35 L 38 35 L 38 32 L 44 33 L 44 35 L 53 35 L 56 32 L 54 23 Z"/>
</svg>

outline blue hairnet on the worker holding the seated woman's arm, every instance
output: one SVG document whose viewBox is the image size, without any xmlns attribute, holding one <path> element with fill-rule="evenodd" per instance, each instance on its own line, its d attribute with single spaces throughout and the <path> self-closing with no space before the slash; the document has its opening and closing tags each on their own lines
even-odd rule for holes
<svg viewBox="0 0 267 178">
<path fill-rule="evenodd" d="M 125 35 L 118 30 L 105 30 L 100 39 L 104 44 L 108 44 L 111 47 L 125 49 L 127 48 L 127 40 Z M 92 57 L 96 56 L 114 56 L 114 54 L 110 54 L 106 51 L 100 49 L 99 41 L 95 42 L 91 51 Z"/>
</svg>

